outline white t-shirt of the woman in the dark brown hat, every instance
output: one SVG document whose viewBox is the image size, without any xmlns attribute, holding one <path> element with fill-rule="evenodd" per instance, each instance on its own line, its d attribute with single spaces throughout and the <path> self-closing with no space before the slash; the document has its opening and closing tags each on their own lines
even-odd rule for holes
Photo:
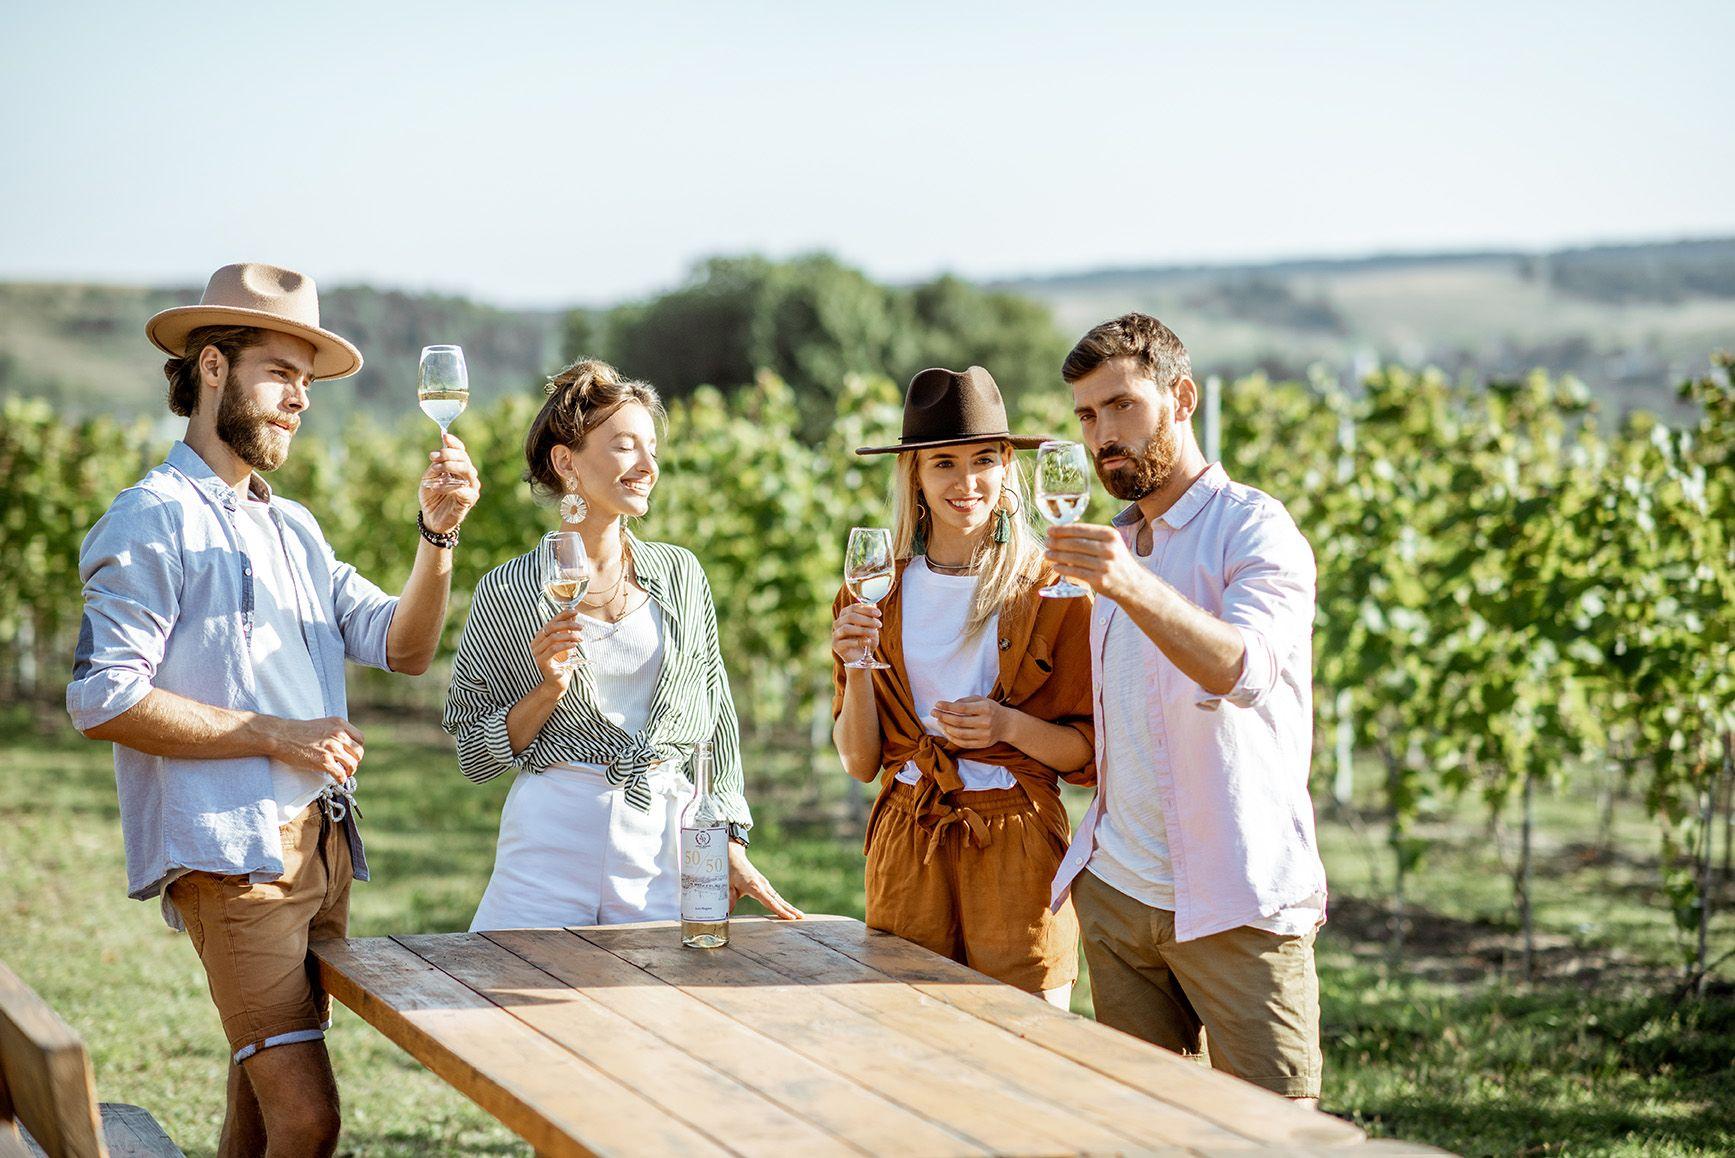
<svg viewBox="0 0 1735 1158">
<path fill-rule="evenodd" d="M 935 736 L 942 734 L 933 720 L 935 703 L 985 696 L 999 679 L 999 616 L 991 618 L 975 637 L 965 639 L 975 585 L 973 575 L 939 575 L 928 569 L 923 556 L 904 568 L 904 670 L 916 700 L 916 715 Z M 970 792 L 1012 788 L 1018 783 L 1005 767 L 977 760 L 958 760 L 958 776 Z M 913 785 L 921 780 L 921 771 L 914 762 L 906 764 L 897 771 L 897 780 Z"/>
</svg>

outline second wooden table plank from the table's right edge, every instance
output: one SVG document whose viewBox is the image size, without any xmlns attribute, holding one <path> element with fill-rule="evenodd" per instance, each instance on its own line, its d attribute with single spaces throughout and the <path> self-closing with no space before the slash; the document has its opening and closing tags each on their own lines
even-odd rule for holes
<svg viewBox="0 0 1735 1158">
<path fill-rule="evenodd" d="M 1190 1108 L 1119 1082 L 1105 1082 L 1076 1061 L 951 1003 L 935 1002 L 904 981 L 800 932 L 793 922 L 743 927 L 734 932 L 730 944 L 881 1024 L 951 1054 L 961 1066 L 998 1075 L 1024 1097 L 1058 1101 L 1116 1134 L 1123 1146 L 1199 1146 L 1225 1153 L 1263 1146 L 1201 1118 Z M 973 974 L 970 984 L 1010 991 L 982 974 Z M 1012 993 L 1027 1003 L 1043 1003 L 1041 998 Z M 1097 1026 L 1091 1031 L 1103 1033 Z"/>
</svg>

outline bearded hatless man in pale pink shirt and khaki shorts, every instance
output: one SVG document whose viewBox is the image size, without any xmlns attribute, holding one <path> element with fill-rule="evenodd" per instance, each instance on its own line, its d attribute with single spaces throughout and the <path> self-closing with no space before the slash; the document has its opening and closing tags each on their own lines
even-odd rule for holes
<svg viewBox="0 0 1735 1158">
<path fill-rule="evenodd" d="M 1098 1021 L 1317 1104 L 1313 552 L 1280 502 L 1206 462 L 1192 363 L 1161 321 L 1105 321 L 1060 373 L 1131 505 L 1048 533 L 1098 595 L 1098 788 L 1055 903 L 1070 891 Z"/>
</svg>

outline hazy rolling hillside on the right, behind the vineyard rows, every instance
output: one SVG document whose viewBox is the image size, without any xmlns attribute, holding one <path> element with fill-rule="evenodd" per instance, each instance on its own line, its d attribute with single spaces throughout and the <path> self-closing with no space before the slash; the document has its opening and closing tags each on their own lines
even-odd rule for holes
<svg viewBox="0 0 1735 1158">
<path fill-rule="evenodd" d="M 1357 358 L 1478 378 L 1574 373 L 1612 410 L 1681 417 L 1674 387 L 1735 347 L 1735 238 L 1551 253 L 1405 253 L 1100 269 L 999 283 L 1083 332 L 1168 321 L 1204 373 L 1296 377 Z"/>
</svg>

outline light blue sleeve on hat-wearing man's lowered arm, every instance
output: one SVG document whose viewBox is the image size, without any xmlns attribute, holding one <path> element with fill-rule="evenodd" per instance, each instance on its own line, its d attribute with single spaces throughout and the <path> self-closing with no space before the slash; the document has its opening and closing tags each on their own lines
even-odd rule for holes
<svg viewBox="0 0 1735 1158">
<path fill-rule="evenodd" d="M 106 724 L 146 698 L 180 615 L 177 510 L 128 488 L 78 550 L 85 611 L 66 710 L 78 731 Z"/>
</svg>

